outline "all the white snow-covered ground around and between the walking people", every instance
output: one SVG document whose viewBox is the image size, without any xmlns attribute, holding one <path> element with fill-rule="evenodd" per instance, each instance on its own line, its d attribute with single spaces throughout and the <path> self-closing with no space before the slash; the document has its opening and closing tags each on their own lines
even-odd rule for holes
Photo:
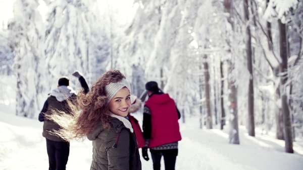
<svg viewBox="0 0 303 170">
<path fill-rule="evenodd" d="M 141 120 L 141 115 L 134 115 Z M 43 123 L 38 120 L 17 117 L 12 109 L 0 103 L 0 170 L 47 169 L 48 158 Z M 295 153 L 284 152 L 284 141 L 256 132 L 247 135 L 240 127 L 240 145 L 228 143 L 227 130 L 199 129 L 196 117 L 180 123 L 182 140 L 176 169 L 303 169 L 303 141 L 293 143 Z M 91 142 L 71 141 L 67 169 L 89 169 Z M 151 159 L 141 158 L 142 169 L 153 169 Z M 163 163 L 163 159 L 162 159 Z M 162 165 L 164 169 L 164 164 Z"/>
</svg>

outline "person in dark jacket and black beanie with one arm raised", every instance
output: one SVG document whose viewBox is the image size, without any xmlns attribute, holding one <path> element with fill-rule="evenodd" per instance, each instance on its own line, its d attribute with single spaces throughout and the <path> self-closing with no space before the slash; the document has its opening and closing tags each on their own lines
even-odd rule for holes
<svg viewBox="0 0 303 170">
<path fill-rule="evenodd" d="M 75 71 L 73 75 L 79 78 L 84 93 L 87 93 L 88 86 L 81 73 L 79 71 Z M 67 76 L 62 76 L 58 81 L 58 88 L 49 94 L 39 114 L 38 120 L 40 122 L 44 122 L 42 135 L 46 138 L 49 170 L 66 169 L 70 144 L 69 141 L 53 134 L 54 131 L 60 130 L 61 127 L 46 117 L 47 115 L 55 113 L 54 111 L 70 114 L 68 101 L 73 103 L 75 102 L 75 99 L 76 93 L 69 86 L 69 78 Z"/>
</svg>

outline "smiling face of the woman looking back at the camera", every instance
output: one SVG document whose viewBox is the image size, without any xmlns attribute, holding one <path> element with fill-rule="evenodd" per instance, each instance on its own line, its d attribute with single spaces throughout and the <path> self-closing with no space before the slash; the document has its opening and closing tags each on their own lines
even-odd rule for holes
<svg viewBox="0 0 303 170">
<path fill-rule="evenodd" d="M 122 88 L 109 103 L 110 111 L 123 117 L 127 116 L 130 105 L 130 93 L 126 87 Z"/>
</svg>

